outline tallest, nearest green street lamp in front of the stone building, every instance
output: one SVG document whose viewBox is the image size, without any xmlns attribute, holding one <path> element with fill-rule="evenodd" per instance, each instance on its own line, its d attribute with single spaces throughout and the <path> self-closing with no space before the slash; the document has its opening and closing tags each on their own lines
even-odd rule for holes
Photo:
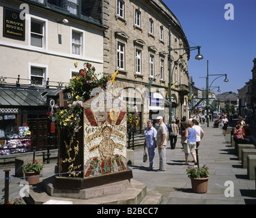
<svg viewBox="0 0 256 218">
<path fill-rule="evenodd" d="M 171 48 L 171 24 L 169 24 L 169 55 L 168 55 L 168 61 L 169 61 L 169 124 L 171 124 L 171 119 L 172 119 L 172 102 L 171 102 L 171 82 L 172 82 L 172 77 L 173 77 L 173 70 L 175 65 L 173 66 L 173 69 L 171 70 L 171 50 L 186 50 L 188 49 L 183 55 L 185 55 L 186 53 L 190 52 L 191 50 L 198 50 L 198 54 L 195 57 L 196 60 L 202 60 L 203 59 L 203 55 L 200 54 L 200 48 L 201 46 L 193 46 L 193 47 L 184 47 L 184 48 Z M 180 57 L 175 61 L 175 63 L 177 63 L 177 61 L 182 58 L 183 55 L 180 55 Z"/>
</svg>

